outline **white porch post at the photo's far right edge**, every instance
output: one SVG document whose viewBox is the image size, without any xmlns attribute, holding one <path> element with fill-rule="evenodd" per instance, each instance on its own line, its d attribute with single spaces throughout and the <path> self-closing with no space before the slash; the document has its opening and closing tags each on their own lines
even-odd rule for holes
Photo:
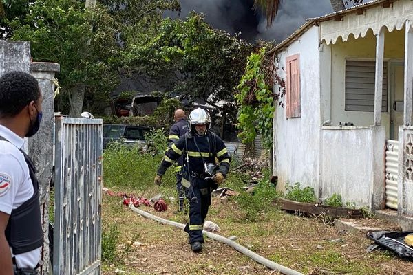
<svg viewBox="0 0 413 275">
<path fill-rule="evenodd" d="M 405 79 L 404 79 L 404 125 L 413 124 L 413 27 L 412 21 L 405 25 Z"/>
</svg>

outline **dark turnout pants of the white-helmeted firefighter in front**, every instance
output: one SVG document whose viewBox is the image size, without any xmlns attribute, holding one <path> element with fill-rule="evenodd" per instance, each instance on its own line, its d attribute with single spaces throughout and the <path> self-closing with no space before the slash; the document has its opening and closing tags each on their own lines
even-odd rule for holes
<svg viewBox="0 0 413 275">
<path fill-rule="evenodd" d="M 193 179 L 193 186 L 184 189 L 189 199 L 189 221 L 184 231 L 189 234 L 189 243 L 204 243 L 202 228 L 211 205 L 211 184 L 196 177 Z M 194 196 L 196 199 L 193 199 Z"/>
</svg>

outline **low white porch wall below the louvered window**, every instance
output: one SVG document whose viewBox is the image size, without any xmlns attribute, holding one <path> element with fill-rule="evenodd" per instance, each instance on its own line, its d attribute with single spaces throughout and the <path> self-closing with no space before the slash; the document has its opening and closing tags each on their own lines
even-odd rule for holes
<svg viewBox="0 0 413 275">
<path fill-rule="evenodd" d="M 381 206 L 384 127 L 323 127 L 321 138 L 321 198 L 338 194 L 357 206 Z"/>
</svg>

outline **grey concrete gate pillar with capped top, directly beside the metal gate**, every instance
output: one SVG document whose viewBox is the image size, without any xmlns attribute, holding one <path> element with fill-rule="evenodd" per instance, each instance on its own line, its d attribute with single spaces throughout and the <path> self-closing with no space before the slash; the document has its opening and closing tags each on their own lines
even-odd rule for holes
<svg viewBox="0 0 413 275">
<path fill-rule="evenodd" d="M 30 66 L 30 73 L 39 81 L 43 94 L 43 119 L 39 132 L 29 139 L 29 155 L 37 168 L 37 178 L 40 185 L 40 207 L 43 217 L 43 258 L 45 263 L 41 274 L 49 272 L 49 190 L 54 165 L 54 74 L 59 72 L 59 64 L 34 62 Z"/>
</svg>

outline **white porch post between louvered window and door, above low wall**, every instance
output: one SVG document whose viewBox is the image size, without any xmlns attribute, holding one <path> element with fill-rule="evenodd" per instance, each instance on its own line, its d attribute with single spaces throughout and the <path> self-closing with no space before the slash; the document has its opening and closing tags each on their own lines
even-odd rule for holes
<svg viewBox="0 0 413 275">
<path fill-rule="evenodd" d="M 383 102 L 383 59 L 384 28 L 376 34 L 376 80 L 374 83 L 374 126 L 381 124 L 381 104 Z"/>
</svg>

